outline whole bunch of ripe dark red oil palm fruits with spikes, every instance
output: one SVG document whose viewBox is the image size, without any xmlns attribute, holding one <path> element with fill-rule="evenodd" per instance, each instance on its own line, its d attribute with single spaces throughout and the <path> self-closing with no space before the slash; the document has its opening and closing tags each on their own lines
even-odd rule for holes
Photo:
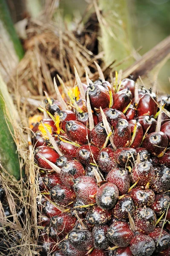
<svg viewBox="0 0 170 256">
<path fill-rule="evenodd" d="M 40 254 L 170 255 L 170 97 L 76 79 L 32 129 Z"/>
</svg>

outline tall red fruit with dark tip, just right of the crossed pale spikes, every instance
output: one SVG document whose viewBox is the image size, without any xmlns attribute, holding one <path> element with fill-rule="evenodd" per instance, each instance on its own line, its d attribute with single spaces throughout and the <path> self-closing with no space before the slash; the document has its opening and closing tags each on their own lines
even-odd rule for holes
<svg viewBox="0 0 170 256">
<path fill-rule="evenodd" d="M 126 119 L 120 119 L 116 125 L 113 142 L 116 148 L 124 148 L 130 145 L 131 129 Z"/>
</svg>

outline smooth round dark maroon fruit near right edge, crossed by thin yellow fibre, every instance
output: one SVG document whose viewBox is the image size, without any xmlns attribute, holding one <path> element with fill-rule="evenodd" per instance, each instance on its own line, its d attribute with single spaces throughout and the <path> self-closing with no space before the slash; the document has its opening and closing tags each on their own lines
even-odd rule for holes
<svg viewBox="0 0 170 256">
<path fill-rule="evenodd" d="M 142 143 L 142 146 L 150 151 L 153 155 L 158 156 L 168 146 L 168 138 L 162 131 L 148 134 Z"/>
</svg>

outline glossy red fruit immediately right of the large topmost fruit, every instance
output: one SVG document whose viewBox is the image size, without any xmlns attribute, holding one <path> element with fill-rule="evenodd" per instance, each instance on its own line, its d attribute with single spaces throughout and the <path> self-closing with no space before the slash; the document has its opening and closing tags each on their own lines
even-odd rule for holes
<svg viewBox="0 0 170 256">
<path fill-rule="evenodd" d="M 129 88 L 119 91 L 113 95 L 112 108 L 116 108 L 119 111 L 124 111 L 125 108 L 132 101 L 132 93 Z"/>
</svg>

